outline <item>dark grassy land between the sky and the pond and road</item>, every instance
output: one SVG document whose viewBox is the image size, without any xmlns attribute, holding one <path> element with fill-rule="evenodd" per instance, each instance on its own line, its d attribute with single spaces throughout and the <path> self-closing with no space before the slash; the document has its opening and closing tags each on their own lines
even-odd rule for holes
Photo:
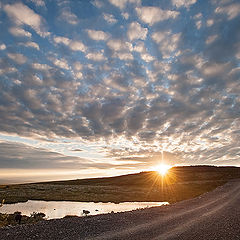
<svg viewBox="0 0 240 240">
<path fill-rule="evenodd" d="M 240 168 L 214 166 L 174 167 L 164 177 L 141 172 L 108 178 L 77 179 L 19 185 L 1 185 L 0 201 L 164 201 L 174 203 L 199 196 L 240 178 Z"/>
</svg>

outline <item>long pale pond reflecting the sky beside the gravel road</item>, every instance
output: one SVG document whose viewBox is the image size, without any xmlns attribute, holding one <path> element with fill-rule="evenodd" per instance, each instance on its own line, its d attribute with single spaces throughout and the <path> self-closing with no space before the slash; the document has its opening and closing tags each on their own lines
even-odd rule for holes
<svg viewBox="0 0 240 240">
<path fill-rule="evenodd" d="M 23 215 L 30 216 L 32 212 L 43 212 L 47 219 L 62 218 L 66 215 L 84 216 L 83 210 L 89 211 L 89 215 L 97 215 L 110 212 L 131 211 L 138 208 L 147 208 L 166 205 L 168 202 L 122 202 L 94 203 L 94 202 L 70 202 L 70 201 L 33 201 L 24 203 L 4 204 L 0 207 L 0 213 L 14 213 L 20 211 Z"/>
</svg>

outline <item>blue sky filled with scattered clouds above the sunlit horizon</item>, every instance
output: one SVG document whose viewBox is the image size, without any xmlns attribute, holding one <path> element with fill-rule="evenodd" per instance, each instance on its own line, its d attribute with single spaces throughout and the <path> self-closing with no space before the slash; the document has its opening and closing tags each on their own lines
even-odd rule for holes
<svg viewBox="0 0 240 240">
<path fill-rule="evenodd" d="M 238 0 L 0 2 L 0 183 L 240 166 Z"/>
</svg>

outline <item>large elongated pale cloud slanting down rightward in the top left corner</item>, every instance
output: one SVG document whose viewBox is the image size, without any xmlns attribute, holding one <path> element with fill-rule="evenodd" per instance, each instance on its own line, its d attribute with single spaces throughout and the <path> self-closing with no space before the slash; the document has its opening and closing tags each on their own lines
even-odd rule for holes
<svg viewBox="0 0 240 240">
<path fill-rule="evenodd" d="M 46 37 L 49 35 L 45 32 L 42 24 L 42 17 L 36 14 L 32 9 L 22 3 L 7 4 L 4 6 L 4 11 L 18 26 L 28 25 L 32 27 L 40 36 Z"/>
</svg>

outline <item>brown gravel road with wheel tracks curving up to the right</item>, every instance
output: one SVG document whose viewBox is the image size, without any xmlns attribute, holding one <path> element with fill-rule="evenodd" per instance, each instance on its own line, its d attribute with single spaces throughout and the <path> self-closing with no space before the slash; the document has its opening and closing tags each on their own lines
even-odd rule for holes
<svg viewBox="0 0 240 240">
<path fill-rule="evenodd" d="M 240 240 L 240 179 L 169 206 L 5 227 L 0 239 Z"/>
</svg>

